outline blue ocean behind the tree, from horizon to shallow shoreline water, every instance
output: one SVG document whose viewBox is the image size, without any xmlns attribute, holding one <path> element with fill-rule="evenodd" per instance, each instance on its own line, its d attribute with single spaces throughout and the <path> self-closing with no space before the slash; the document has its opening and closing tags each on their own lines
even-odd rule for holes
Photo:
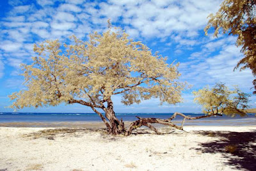
<svg viewBox="0 0 256 171">
<path fill-rule="evenodd" d="M 190 115 L 191 117 L 196 117 L 204 114 L 193 114 L 193 113 L 184 113 Z M 159 114 L 159 113 L 117 113 L 116 117 L 118 119 L 123 119 L 124 121 L 135 121 L 139 117 L 157 117 L 160 119 L 167 119 L 172 116 L 172 114 Z M 177 115 L 173 119 L 174 123 L 180 123 L 183 117 Z M 84 113 L 18 113 L 18 112 L 1 112 L 0 113 L 0 126 L 12 125 L 13 123 L 29 123 L 29 127 L 40 127 L 40 124 L 47 123 L 47 126 L 51 126 L 51 123 L 99 123 L 102 122 L 99 115 L 97 114 L 84 114 Z M 10 124 L 7 124 L 10 123 Z M 24 125 L 24 124 L 23 124 Z M 26 125 L 26 124 L 25 124 Z M 59 124 L 61 125 L 61 124 Z M 223 116 L 214 116 L 207 117 L 203 119 L 196 120 L 186 120 L 185 125 L 202 125 L 202 126 L 256 126 L 256 117 L 255 114 L 248 114 L 246 117 L 228 117 Z"/>
</svg>

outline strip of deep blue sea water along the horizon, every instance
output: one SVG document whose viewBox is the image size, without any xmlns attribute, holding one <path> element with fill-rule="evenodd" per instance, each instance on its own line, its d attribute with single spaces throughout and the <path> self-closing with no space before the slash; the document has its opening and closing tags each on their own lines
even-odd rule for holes
<svg viewBox="0 0 256 171">
<path fill-rule="evenodd" d="M 204 114 L 192 114 L 192 113 L 185 113 L 186 115 L 190 115 L 193 117 L 204 115 Z M 172 116 L 172 114 L 159 114 L 159 113 L 117 113 L 116 117 L 118 119 L 123 119 L 124 121 L 135 121 L 139 117 L 157 117 L 160 119 L 167 119 L 168 117 Z M 177 115 L 173 121 L 181 121 L 183 117 Z M 207 117 L 203 119 L 196 119 L 196 122 L 201 123 L 209 123 L 209 121 L 216 121 L 221 120 L 224 123 L 232 122 L 246 122 L 246 123 L 254 123 L 256 125 L 256 117 L 255 114 L 248 114 L 246 117 L 227 117 L 226 115 L 223 116 L 216 116 L 216 117 Z M 97 114 L 84 114 L 84 113 L 18 113 L 18 112 L 2 112 L 0 113 L 0 123 L 38 123 L 38 122 L 100 122 L 101 119 Z M 195 120 L 193 120 L 195 121 Z M 215 122 L 213 122 L 215 123 Z M 216 122 L 218 123 L 218 122 Z"/>
</svg>

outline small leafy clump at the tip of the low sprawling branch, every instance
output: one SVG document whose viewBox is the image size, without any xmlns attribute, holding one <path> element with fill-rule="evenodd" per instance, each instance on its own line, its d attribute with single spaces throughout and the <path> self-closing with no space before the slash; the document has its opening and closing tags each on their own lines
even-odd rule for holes
<svg viewBox="0 0 256 171">
<path fill-rule="evenodd" d="M 248 108 L 249 94 L 241 92 L 237 87 L 233 91 L 224 84 L 216 84 L 211 89 L 205 87 L 198 91 L 193 91 L 194 101 L 202 105 L 203 112 L 211 115 L 235 115 L 245 116 L 244 112 Z"/>
</svg>

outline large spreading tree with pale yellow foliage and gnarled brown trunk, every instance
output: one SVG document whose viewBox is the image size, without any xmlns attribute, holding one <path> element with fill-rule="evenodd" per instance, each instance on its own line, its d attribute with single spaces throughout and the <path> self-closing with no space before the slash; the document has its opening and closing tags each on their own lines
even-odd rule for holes
<svg viewBox="0 0 256 171">
<path fill-rule="evenodd" d="M 72 45 L 46 40 L 34 46 L 38 56 L 32 64 L 23 64 L 26 89 L 10 95 L 12 108 L 79 103 L 92 108 L 113 135 L 130 135 L 143 125 L 157 131 L 150 123 L 175 126 L 163 119 L 139 118 L 126 129 L 116 118 L 112 97 L 121 95 L 125 105 L 150 98 L 179 103 L 184 89 L 184 83 L 177 81 L 179 64 L 167 64 L 166 57 L 153 55 L 120 29 L 95 32 L 88 41 L 71 39 Z"/>
</svg>

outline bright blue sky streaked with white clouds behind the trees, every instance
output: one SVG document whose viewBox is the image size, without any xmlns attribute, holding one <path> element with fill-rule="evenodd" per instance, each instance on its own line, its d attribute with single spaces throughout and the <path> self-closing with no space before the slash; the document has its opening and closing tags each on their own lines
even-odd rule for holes
<svg viewBox="0 0 256 171">
<path fill-rule="evenodd" d="M 168 63 L 180 63 L 181 81 L 193 85 L 182 93 L 183 103 L 159 105 L 159 100 L 142 101 L 139 105 L 125 106 L 121 96 L 113 97 L 116 112 L 201 112 L 193 102 L 192 91 L 205 85 L 223 82 L 237 85 L 252 94 L 250 70 L 234 70 L 243 57 L 236 47 L 236 37 L 205 36 L 207 16 L 220 8 L 219 0 L 1 0 L 0 1 L 0 112 L 13 112 L 6 108 L 12 104 L 8 95 L 24 89 L 20 64 L 31 64 L 33 44 L 59 39 L 67 42 L 75 34 L 88 40 L 93 31 L 102 33 L 111 19 L 113 26 L 122 27 L 130 38 L 142 41 L 152 52 L 167 56 Z M 250 107 L 256 107 L 251 96 Z M 92 112 L 82 105 L 23 108 L 18 112 Z"/>
</svg>

